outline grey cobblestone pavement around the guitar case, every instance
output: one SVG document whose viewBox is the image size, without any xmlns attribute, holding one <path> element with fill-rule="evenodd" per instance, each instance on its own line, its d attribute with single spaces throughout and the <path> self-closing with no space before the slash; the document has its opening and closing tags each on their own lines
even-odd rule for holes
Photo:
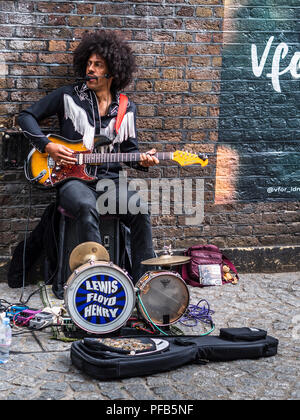
<svg viewBox="0 0 300 420">
<path fill-rule="evenodd" d="M 207 365 L 186 365 L 147 377 L 99 381 L 70 361 L 70 343 L 46 331 L 13 337 L 12 354 L 0 366 L 2 400 L 239 400 L 300 399 L 300 273 L 244 274 L 237 285 L 191 288 L 191 303 L 206 299 L 222 327 L 258 327 L 279 339 L 278 355 Z M 34 290 L 25 289 L 25 296 Z M 0 298 L 19 299 L 21 289 L 0 283 Z M 35 295 L 30 306 L 42 308 Z M 179 326 L 179 325 L 178 325 Z M 201 334 L 203 324 L 182 327 Z"/>
</svg>

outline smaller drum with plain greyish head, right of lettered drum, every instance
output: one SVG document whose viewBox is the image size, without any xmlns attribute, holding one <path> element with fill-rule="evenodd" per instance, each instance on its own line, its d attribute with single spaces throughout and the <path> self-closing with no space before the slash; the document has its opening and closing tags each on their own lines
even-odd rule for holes
<svg viewBox="0 0 300 420">
<path fill-rule="evenodd" d="M 141 277 L 138 288 L 137 308 L 147 321 L 158 326 L 177 322 L 189 306 L 187 285 L 178 273 L 151 271 Z"/>
</svg>

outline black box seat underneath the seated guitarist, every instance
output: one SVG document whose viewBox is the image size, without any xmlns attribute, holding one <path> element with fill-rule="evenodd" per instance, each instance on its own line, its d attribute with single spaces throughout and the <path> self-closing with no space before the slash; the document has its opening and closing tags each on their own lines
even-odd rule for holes
<svg viewBox="0 0 300 420">
<path fill-rule="evenodd" d="M 60 213 L 58 237 L 58 269 L 55 294 L 62 297 L 63 286 L 70 277 L 69 259 L 73 249 L 79 244 L 74 216 L 58 206 Z M 102 245 L 107 249 L 110 260 L 131 273 L 130 230 L 116 216 L 101 216 L 99 230 Z"/>
</svg>

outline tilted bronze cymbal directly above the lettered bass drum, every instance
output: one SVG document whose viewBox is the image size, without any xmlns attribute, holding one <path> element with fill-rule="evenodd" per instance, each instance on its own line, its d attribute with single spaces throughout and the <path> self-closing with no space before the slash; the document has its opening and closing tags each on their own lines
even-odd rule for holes
<svg viewBox="0 0 300 420">
<path fill-rule="evenodd" d="M 83 242 L 71 252 L 69 265 L 73 272 L 77 267 L 89 261 L 109 261 L 109 253 L 98 242 Z"/>
</svg>

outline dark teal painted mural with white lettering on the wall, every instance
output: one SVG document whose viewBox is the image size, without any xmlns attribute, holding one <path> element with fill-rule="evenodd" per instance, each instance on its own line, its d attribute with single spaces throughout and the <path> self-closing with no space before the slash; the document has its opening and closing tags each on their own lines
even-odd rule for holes
<svg viewBox="0 0 300 420">
<path fill-rule="evenodd" d="M 225 0 L 215 202 L 300 198 L 299 0 Z"/>
</svg>

